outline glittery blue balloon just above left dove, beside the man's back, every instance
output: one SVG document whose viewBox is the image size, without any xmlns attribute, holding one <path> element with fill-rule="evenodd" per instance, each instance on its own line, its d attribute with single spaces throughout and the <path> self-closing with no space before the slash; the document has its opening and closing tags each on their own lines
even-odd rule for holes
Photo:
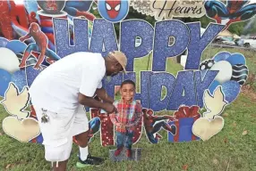
<svg viewBox="0 0 256 171">
<path fill-rule="evenodd" d="M 19 91 L 21 92 L 23 87 L 27 85 L 25 69 L 14 72 L 11 81 L 18 87 Z"/>
</svg>

